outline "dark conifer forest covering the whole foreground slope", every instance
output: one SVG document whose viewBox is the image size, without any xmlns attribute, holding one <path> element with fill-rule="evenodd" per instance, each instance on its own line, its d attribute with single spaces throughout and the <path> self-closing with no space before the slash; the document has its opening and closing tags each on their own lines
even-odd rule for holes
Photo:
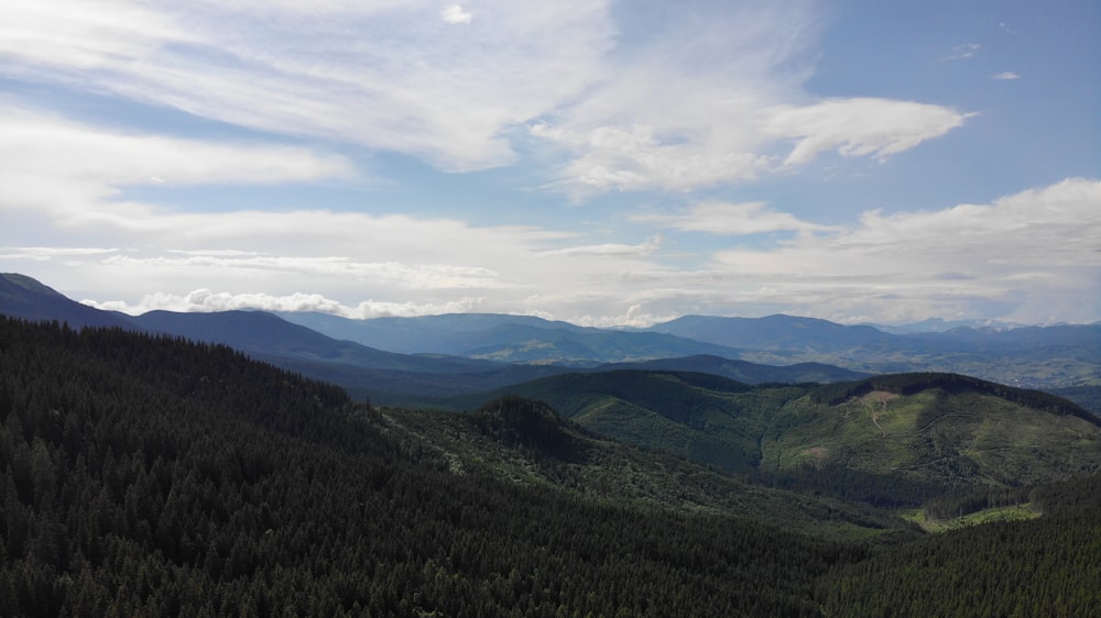
<svg viewBox="0 0 1101 618">
<path fill-rule="evenodd" d="M 502 404 L 488 432 L 557 452 L 560 419 Z M 1101 538 L 1097 506 L 1072 499 L 1093 486 L 1001 537 L 872 547 L 457 475 L 384 428 L 225 346 L 0 319 L 0 615 L 956 614 L 958 588 L 907 587 L 923 560 L 945 577 L 1029 570 L 1032 587 L 969 593 L 980 615 L 1101 603 L 1095 567 L 1071 567 L 1071 544 Z M 977 562 L 991 539 L 1000 561 Z"/>
</svg>

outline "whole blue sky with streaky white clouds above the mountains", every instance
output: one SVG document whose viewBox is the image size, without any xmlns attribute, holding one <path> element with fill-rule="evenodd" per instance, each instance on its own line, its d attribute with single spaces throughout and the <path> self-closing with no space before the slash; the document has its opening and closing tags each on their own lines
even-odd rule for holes
<svg viewBox="0 0 1101 618">
<path fill-rule="evenodd" d="M 1097 0 L 0 8 L 0 271 L 95 307 L 1101 320 Z"/>
</svg>

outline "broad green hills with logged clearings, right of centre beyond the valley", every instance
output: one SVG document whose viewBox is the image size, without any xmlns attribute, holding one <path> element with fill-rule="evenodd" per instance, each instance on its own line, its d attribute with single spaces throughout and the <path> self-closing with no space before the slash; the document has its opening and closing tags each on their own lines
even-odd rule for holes
<svg viewBox="0 0 1101 618">
<path fill-rule="evenodd" d="M 953 374 L 748 386 L 676 372 L 517 385 L 579 426 L 785 487 L 883 505 L 1101 471 L 1101 427 L 1065 399 Z"/>
</svg>

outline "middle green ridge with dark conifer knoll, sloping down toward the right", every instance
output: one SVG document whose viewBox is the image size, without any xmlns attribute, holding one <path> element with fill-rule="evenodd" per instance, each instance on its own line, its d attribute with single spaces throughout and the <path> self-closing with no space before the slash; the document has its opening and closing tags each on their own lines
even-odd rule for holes
<svg viewBox="0 0 1101 618">
<path fill-rule="evenodd" d="M 913 529 L 896 516 L 837 498 L 775 489 L 653 449 L 597 435 L 544 404 L 503 397 L 471 415 L 381 409 L 388 435 L 456 474 L 476 474 L 579 498 L 768 522 L 830 539 Z"/>
</svg>

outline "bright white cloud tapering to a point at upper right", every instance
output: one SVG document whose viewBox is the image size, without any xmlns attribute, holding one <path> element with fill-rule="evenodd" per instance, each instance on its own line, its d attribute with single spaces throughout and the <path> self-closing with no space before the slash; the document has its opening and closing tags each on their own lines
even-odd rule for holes
<svg viewBox="0 0 1101 618">
<path fill-rule="evenodd" d="M 669 103 L 668 118 L 655 118 L 654 124 L 578 131 L 538 123 L 530 132 L 577 154 L 563 168 L 559 186 L 584 197 L 604 190 L 690 190 L 751 180 L 806 164 L 828 151 L 882 161 L 939 137 L 970 117 L 941 106 L 872 98 L 767 106 L 699 92 L 708 88 L 669 87 L 684 95 Z M 777 165 L 766 153 L 789 141 L 795 146 Z"/>
</svg>

